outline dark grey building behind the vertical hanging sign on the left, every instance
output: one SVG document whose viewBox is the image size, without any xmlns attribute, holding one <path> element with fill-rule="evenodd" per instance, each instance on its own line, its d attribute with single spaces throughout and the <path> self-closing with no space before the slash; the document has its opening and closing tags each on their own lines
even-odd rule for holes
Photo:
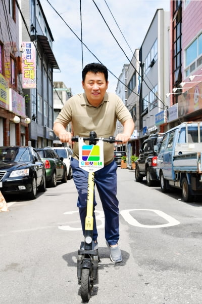
<svg viewBox="0 0 202 304">
<path fill-rule="evenodd" d="M 31 118 L 29 141 L 34 147 L 52 146 L 53 70 L 59 69 L 52 47 L 54 38 L 39 0 L 21 0 L 21 50 L 32 43 L 36 53 L 36 86 L 25 86 L 26 112 Z M 24 82 L 23 82 L 24 84 Z"/>
</svg>

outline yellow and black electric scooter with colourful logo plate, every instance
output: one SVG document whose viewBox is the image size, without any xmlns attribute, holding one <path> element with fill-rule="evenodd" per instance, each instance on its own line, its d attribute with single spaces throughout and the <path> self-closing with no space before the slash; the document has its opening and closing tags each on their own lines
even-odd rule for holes
<svg viewBox="0 0 202 304">
<path fill-rule="evenodd" d="M 93 233 L 93 196 L 94 196 L 94 172 L 104 167 L 104 141 L 114 143 L 115 137 L 97 138 L 91 131 L 89 137 L 72 137 L 72 141 L 79 143 L 79 167 L 88 172 L 87 211 L 85 218 L 84 242 L 81 242 L 77 257 L 77 278 L 81 284 L 81 298 L 89 301 L 93 283 L 98 278 L 98 249 L 94 250 Z M 84 141 L 89 141 L 86 144 Z"/>
</svg>

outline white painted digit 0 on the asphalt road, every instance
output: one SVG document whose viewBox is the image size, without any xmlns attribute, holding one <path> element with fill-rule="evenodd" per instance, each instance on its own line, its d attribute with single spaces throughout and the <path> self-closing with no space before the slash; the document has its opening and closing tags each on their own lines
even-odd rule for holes
<svg viewBox="0 0 202 304">
<path fill-rule="evenodd" d="M 144 224 L 139 223 L 134 217 L 132 217 L 132 215 L 130 214 L 131 211 L 153 211 L 156 214 L 158 214 L 159 216 L 166 219 L 168 221 L 168 223 L 161 224 L 161 225 L 144 225 Z M 169 227 L 169 226 L 175 226 L 175 225 L 180 224 L 180 222 L 178 220 L 176 220 L 174 217 L 164 213 L 163 211 L 155 210 L 155 209 L 128 209 L 128 210 L 122 210 L 120 213 L 123 216 L 123 218 L 130 225 L 142 227 L 142 228 L 161 228 L 161 227 Z"/>
</svg>

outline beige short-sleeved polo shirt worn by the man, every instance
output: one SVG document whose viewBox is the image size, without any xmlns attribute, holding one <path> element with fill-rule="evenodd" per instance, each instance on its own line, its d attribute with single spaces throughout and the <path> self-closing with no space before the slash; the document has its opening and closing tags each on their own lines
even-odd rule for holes
<svg viewBox="0 0 202 304">
<path fill-rule="evenodd" d="M 106 93 L 102 103 L 95 107 L 89 104 L 85 93 L 77 94 L 68 99 L 55 122 L 67 126 L 72 122 L 74 136 L 89 136 L 95 131 L 97 137 L 114 135 L 116 122 L 122 124 L 131 119 L 129 110 L 123 101 L 114 93 Z M 74 144 L 73 157 L 78 159 L 78 143 Z M 114 145 L 104 142 L 105 166 L 114 160 Z"/>
</svg>

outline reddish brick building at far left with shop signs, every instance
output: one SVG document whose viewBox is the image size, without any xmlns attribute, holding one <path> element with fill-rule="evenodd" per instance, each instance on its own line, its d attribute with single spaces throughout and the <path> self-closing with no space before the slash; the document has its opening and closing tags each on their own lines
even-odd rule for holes
<svg viewBox="0 0 202 304">
<path fill-rule="evenodd" d="M 16 1 L 0 3 L 0 146 L 28 142 Z"/>
</svg>

